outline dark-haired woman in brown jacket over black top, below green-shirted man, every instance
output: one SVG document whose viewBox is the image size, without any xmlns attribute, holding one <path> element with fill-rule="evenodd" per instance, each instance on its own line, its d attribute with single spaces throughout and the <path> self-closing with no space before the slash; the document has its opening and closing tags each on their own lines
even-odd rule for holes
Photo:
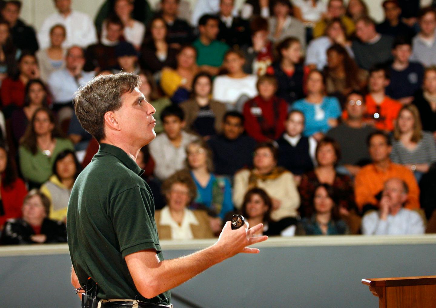
<svg viewBox="0 0 436 308">
<path fill-rule="evenodd" d="M 192 82 L 192 99 L 180 104 L 185 114 L 187 130 L 208 139 L 221 133 L 225 105 L 211 99 L 212 77 L 198 73 Z"/>
</svg>

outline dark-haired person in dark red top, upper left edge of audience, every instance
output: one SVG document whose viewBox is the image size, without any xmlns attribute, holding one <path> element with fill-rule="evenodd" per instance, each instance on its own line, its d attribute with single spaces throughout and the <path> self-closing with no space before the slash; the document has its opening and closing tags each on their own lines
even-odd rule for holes
<svg viewBox="0 0 436 308">
<path fill-rule="evenodd" d="M 39 78 L 39 68 L 34 55 L 23 53 L 18 60 L 18 76 L 17 78 L 7 77 L 1 85 L 1 101 L 3 108 L 17 108 L 24 105 L 24 97 L 27 82 L 31 79 Z M 10 115 L 4 112 L 5 116 Z"/>
</svg>

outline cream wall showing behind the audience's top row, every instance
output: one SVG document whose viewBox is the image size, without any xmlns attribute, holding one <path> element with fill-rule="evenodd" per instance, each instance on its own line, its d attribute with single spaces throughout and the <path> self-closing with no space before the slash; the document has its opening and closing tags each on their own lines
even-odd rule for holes
<svg viewBox="0 0 436 308">
<path fill-rule="evenodd" d="M 160 0 L 149 0 L 149 3 L 152 7 L 155 7 L 156 3 Z M 187 0 L 191 2 L 191 7 L 197 2 L 197 0 Z M 323 0 L 327 1 L 327 0 Z M 53 0 L 22 0 L 23 9 L 21 16 L 26 20 L 29 24 L 34 25 L 36 29 L 41 27 L 44 19 L 55 12 Z M 79 10 L 85 13 L 88 13 L 92 17 L 95 16 L 99 7 L 105 0 L 72 0 L 72 5 L 75 10 Z M 245 0 L 236 0 L 235 3 L 237 6 L 241 6 Z M 381 3 L 383 0 L 366 0 L 368 3 L 368 8 L 371 16 L 376 21 L 381 21 L 383 19 L 383 10 L 381 9 Z M 429 5 L 431 0 L 421 0 L 421 5 L 426 6 Z"/>
</svg>

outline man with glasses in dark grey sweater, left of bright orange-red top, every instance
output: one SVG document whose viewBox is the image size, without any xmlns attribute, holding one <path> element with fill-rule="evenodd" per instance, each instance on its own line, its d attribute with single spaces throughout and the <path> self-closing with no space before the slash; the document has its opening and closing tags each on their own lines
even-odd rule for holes
<svg viewBox="0 0 436 308">
<path fill-rule="evenodd" d="M 341 159 L 337 171 L 355 176 L 362 166 L 370 162 L 366 139 L 374 128 L 365 123 L 366 104 L 361 92 L 348 94 L 345 110 L 347 119 L 327 132 L 341 146 Z M 350 142 L 353 140 L 353 142 Z"/>
</svg>

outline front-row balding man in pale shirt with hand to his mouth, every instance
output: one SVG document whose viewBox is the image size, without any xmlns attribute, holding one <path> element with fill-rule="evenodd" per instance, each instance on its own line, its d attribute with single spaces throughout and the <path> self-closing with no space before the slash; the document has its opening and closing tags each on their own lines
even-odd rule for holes
<svg viewBox="0 0 436 308">
<path fill-rule="evenodd" d="M 419 213 L 403 207 L 407 200 L 407 184 L 399 178 L 385 182 L 380 210 L 370 212 L 362 219 L 365 235 L 422 234 L 424 222 Z"/>
</svg>

